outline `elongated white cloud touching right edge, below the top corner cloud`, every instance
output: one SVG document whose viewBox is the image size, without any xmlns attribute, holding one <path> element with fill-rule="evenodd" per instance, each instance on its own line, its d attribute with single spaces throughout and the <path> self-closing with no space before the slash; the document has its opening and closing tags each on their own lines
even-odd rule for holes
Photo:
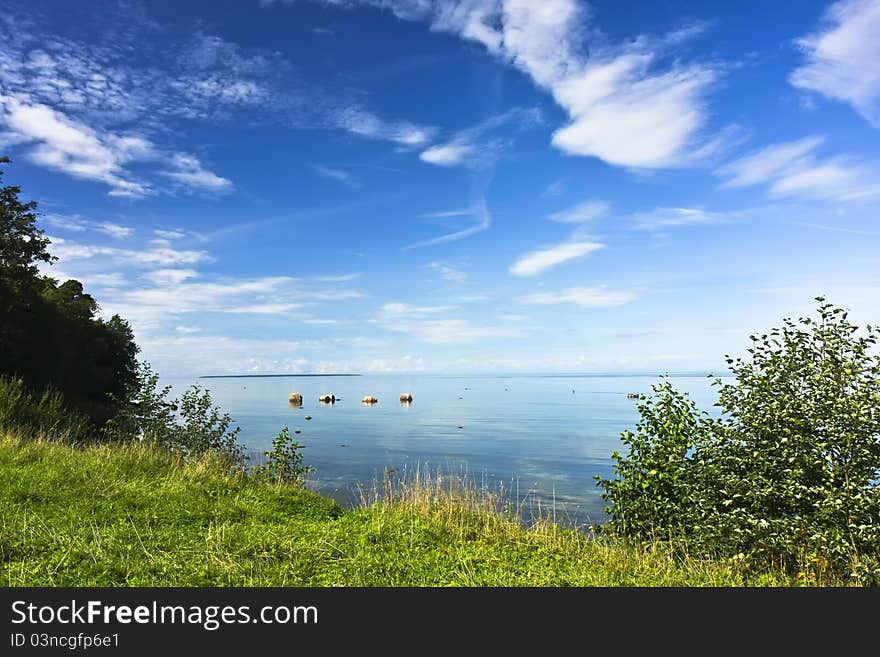
<svg viewBox="0 0 880 657">
<path fill-rule="evenodd" d="M 880 195 L 880 168 L 838 156 L 819 159 L 821 137 L 773 144 L 730 162 L 716 172 L 722 187 L 766 183 L 776 196 L 854 201 Z"/>
</svg>

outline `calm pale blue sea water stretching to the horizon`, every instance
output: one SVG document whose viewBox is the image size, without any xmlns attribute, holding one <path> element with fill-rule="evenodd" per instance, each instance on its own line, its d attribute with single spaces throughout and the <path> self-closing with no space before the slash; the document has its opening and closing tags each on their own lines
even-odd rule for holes
<svg viewBox="0 0 880 657">
<path fill-rule="evenodd" d="M 706 376 L 671 376 L 697 405 L 713 412 L 715 388 Z M 315 468 L 310 486 L 343 505 L 359 486 L 381 481 L 386 468 L 465 475 L 506 491 L 528 517 L 539 507 L 580 526 L 605 519 L 594 475 L 612 474 L 620 432 L 635 427 L 636 401 L 657 376 L 267 377 L 169 379 L 179 396 L 198 383 L 241 428 L 252 461 L 288 425 Z M 288 403 L 291 392 L 303 405 Z M 413 395 L 411 404 L 400 394 Z M 334 404 L 318 397 L 333 394 Z M 378 403 L 361 400 L 374 396 Z M 714 414 L 714 413 L 713 413 Z M 311 420 L 306 420 L 311 416 Z M 299 429 L 299 435 L 293 434 Z"/>
</svg>

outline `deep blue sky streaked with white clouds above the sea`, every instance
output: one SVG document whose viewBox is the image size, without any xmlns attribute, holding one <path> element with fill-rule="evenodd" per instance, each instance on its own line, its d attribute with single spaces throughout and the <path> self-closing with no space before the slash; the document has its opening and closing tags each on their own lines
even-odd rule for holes
<svg viewBox="0 0 880 657">
<path fill-rule="evenodd" d="M 725 371 L 880 315 L 880 0 L 0 2 L 0 149 L 166 376 Z"/>
</svg>

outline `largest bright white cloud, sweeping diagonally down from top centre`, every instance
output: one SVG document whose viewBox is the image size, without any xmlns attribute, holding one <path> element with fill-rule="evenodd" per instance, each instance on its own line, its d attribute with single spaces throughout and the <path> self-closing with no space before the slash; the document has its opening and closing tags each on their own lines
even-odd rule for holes
<svg viewBox="0 0 880 657">
<path fill-rule="evenodd" d="M 717 73 L 708 65 L 661 64 L 664 50 L 701 29 L 602 48 L 585 42 L 589 15 L 577 0 L 360 4 L 390 10 L 405 20 L 428 20 L 432 29 L 480 43 L 528 74 L 568 113 L 568 125 L 552 139 L 566 153 L 625 167 L 661 168 L 689 164 L 702 148 L 704 98 Z"/>
</svg>

